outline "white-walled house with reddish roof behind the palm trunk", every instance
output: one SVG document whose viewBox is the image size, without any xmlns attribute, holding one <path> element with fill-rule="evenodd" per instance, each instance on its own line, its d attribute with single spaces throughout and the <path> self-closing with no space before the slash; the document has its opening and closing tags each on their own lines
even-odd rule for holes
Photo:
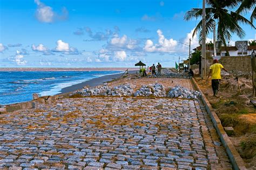
<svg viewBox="0 0 256 170">
<path fill-rule="evenodd" d="M 240 40 L 235 42 L 235 46 L 224 46 L 218 47 L 218 42 L 216 42 L 216 54 L 217 56 L 226 56 L 226 48 L 230 53 L 230 56 L 248 56 L 251 55 L 253 50 L 256 52 L 256 45 L 248 46 L 248 42 Z M 201 50 L 201 46 L 198 46 L 196 49 Z M 213 47 L 206 45 L 206 51 L 210 52 L 211 56 L 214 56 Z"/>
</svg>

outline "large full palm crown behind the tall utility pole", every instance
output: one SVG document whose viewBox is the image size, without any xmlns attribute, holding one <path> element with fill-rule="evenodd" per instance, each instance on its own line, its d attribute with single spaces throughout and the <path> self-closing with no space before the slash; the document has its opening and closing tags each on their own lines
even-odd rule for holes
<svg viewBox="0 0 256 170">
<path fill-rule="evenodd" d="M 231 39 L 231 35 L 235 33 L 239 38 L 245 37 L 245 31 L 242 30 L 240 23 L 249 24 L 254 29 L 254 25 L 245 17 L 231 11 L 238 7 L 241 0 L 223 1 L 223 0 L 207 0 L 208 8 L 206 12 L 206 36 L 213 31 L 214 25 L 217 23 L 217 39 L 225 46 L 227 56 L 230 56 L 227 50 L 226 40 Z M 192 8 L 185 13 L 185 21 L 192 18 L 201 18 L 203 9 Z M 199 42 L 202 39 L 202 20 L 194 29 L 193 36 L 199 32 Z"/>
</svg>

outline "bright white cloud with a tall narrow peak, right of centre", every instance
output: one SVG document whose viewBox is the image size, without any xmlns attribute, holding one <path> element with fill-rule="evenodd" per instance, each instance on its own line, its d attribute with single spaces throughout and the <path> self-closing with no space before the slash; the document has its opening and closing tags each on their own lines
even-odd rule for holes
<svg viewBox="0 0 256 170">
<path fill-rule="evenodd" d="M 172 38 L 166 39 L 161 30 L 157 30 L 158 44 L 154 44 L 152 40 L 147 39 L 144 50 L 146 52 L 174 52 L 178 42 Z"/>
</svg>

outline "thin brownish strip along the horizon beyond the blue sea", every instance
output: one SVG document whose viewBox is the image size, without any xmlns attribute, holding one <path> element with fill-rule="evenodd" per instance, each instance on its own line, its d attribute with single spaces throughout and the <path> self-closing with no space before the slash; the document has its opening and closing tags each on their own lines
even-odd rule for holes
<svg viewBox="0 0 256 170">
<path fill-rule="evenodd" d="M 63 68 L 63 67 L 19 67 L 0 68 L 0 71 L 125 71 L 139 70 L 137 67 L 84 67 L 84 68 Z"/>
</svg>

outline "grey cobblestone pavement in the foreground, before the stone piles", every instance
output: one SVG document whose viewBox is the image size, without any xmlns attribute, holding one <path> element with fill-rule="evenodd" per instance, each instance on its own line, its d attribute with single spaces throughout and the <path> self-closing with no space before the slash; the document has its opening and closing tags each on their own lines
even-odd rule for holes
<svg viewBox="0 0 256 170">
<path fill-rule="evenodd" d="M 96 97 L 0 114 L 0 168 L 232 166 L 200 101 Z"/>
</svg>

